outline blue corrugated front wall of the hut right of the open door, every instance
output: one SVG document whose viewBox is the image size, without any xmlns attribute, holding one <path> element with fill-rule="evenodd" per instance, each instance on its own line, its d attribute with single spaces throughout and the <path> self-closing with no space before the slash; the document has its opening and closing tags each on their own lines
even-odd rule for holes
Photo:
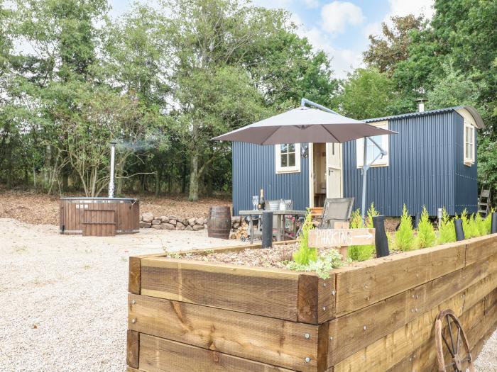
<svg viewBox="0 0 497 372">
<path fill-rule="evenodd" d="M 412 215 L 422 205 L 430 215 L 442 206 L 455 213 L 454 154 L 462 149 L 455 143 L 459 126 L 454 115 L 459 116 L 452 111 L 389 120 L 389 129 L 399 134 L 390 136 L 390 165 L 368 171 L 366 205 L 374 202 L 383 215 L 400 215 L 403 203 Z M 344 144 L 344 195 L 354 196 L 354 208 L 359 208 L 361 170 L 356 167 L 355 141 Z"/>
</svg>

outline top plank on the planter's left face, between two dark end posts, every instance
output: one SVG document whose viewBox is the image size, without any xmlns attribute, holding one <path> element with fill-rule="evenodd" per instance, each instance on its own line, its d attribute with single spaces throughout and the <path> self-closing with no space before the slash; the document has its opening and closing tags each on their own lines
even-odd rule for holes
<svg viewBox="0 0 497 372">
<path fill-rule="evenodd" d="M 141 294 L 298 320 L 301 273 L 177 259 L 141 259 Z"/>
</svg>

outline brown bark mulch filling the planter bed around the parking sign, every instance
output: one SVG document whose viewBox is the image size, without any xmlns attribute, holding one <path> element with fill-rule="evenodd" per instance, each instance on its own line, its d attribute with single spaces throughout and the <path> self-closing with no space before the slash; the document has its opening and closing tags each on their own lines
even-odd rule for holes
<svg viewBox="0 0 497 372">
<path fill-rule="evenodd" d="M 244 249 L 239 252 L 209 253 L 202 254 L 169 254 L 169 257 L 187 259 L 192 261 L 219 262 L 243 266 L 272 267 L 285 269 L 288 261 L 292 260 L 293 252 L 298 249 L 298 244 L 273 245 L 272 248 Z M 332 248 L 320 249 L 320 254 L 326 254 Z M 207 254 L 206 254 L 207 253 Z M 345 264 L 345 263 L 344 263 Z"/>
</svg>

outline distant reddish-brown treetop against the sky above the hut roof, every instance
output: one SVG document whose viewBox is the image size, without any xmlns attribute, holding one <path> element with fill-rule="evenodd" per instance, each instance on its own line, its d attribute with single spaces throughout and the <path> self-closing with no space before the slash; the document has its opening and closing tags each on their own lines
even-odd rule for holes
<svg viewBox="0 0 497 372">
<path fill-rule="evenodd" d="M 427 22 L 422 16 L 415 17 L 413 14 L 407 16 L 391 17 L 393 27 L 390 28 L 383 22 L 381 30 L 383 35 L 369 35 L 369 47 L 364 55 L 364 62 L 368 67 L 376 67 L 380 72 L 386 72 L 389 76 L 397 67 L 398 62 L 407 60 L 409 47 L 413 43 L 413 31 L 423 30 Z"/>
</svg>

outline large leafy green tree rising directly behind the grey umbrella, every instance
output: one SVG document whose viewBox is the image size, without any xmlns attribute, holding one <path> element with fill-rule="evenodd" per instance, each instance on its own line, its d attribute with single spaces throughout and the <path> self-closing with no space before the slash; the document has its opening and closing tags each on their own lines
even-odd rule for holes
<svg viewBox="0 0 497 372">
<path fill-rule="evenodd" d="M 195 201 L 209 164 L 229 154 L 209 139 L 274 112 L 267 106 L 294 106 L 307 91 L 310 98 L 329 99 L 329 64 L 293 33 L 283 11 L 225 0 L 163 5 L 172 115 Z"/>
</svg>

